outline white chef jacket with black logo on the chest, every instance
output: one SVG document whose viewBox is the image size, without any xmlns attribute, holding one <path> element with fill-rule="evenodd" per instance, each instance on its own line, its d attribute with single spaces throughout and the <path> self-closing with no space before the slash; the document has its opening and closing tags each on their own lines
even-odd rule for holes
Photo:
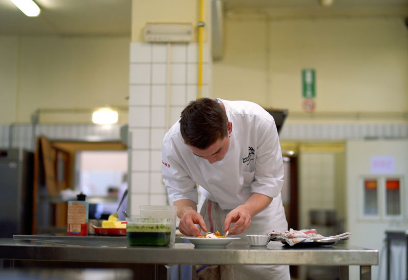
<svg viewBox="0 0 408 280">
<path fill-rule="evenodd" d="M 233 129 L 225 157 L 210 163 L 195 156 L 184 143 L 180 122 L 166 133 L 162 147 L 162 174 L 172 203 L 201 195 L 222 209 L 244 204 L 253 192 L 277 198 L 283 186 L 284 166 L 272 116 L 249 101 L 218 99 Z"/>
</svg>

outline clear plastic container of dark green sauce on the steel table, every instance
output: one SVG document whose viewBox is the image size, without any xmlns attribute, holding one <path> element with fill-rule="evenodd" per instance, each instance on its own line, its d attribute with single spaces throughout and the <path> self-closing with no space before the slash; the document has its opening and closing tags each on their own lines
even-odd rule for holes
<svg viewBox="0 0 408 280">
<path fill-rule="evenodd" d="M 156 245 L 170 244 L 172 219 L 159 218 L 132 218 L 134 222 L 127 221 L 126 239 L 129 245 Z"/>
</svg>

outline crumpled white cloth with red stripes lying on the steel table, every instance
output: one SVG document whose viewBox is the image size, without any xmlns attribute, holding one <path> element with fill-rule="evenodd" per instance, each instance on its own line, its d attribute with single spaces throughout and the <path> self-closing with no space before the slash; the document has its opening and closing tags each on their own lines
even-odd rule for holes
<svg viewBox="0 0 408 280">
<path fill-rule="evenodd" d="M 272 230 L 268 233 L 268 235 L 271 236 L 271 240 L 272 239 L 284 239 L 290 246 L 293 246 L 307 239 L 318 240 L 318 239 L 323 239 L 323 238 L 337 238 L 339 240 L 346 240 L 352 234 L 349 232 L 345 232 L 345 233 L 338 234 L 338 235 L 324 237 L 320 234 L 317 234 L 316 230 L 295 231 L 293 229 L 290 229 L 289 231 L 285 231 L 285 232 L 279 232 L 279 231 Z"/>
</svg>

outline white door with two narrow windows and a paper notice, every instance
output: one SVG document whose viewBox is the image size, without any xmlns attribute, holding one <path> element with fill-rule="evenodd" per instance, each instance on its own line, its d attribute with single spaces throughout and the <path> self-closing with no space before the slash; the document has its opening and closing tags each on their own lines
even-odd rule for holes
<svg viewBox="0 0 408 280">
<path fill-rule="evenodd" d="M 346 166 L 348 243 L 378 249 L 372 279 L 385 279 L 385 231 L 408 229 L 408 141 L 348 141 Z M 358 273 L 353 267 L 350 279 Z"/>
</svg>

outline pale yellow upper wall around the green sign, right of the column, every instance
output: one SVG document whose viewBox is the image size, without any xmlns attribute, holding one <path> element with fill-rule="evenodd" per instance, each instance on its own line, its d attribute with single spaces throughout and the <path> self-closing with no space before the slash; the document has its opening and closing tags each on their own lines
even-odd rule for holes
<svg viewBox="0 0 408 280">
<path fill-rule="evenodd" d="M 407 49 L 408 31 L 399 17 L 228 14 L 212 96 L 287 108 L 291 122 L 291 113 L 302 112 L 301 69 L 313 68 L 316 112 L 407 111 Z"/>
</svg>

